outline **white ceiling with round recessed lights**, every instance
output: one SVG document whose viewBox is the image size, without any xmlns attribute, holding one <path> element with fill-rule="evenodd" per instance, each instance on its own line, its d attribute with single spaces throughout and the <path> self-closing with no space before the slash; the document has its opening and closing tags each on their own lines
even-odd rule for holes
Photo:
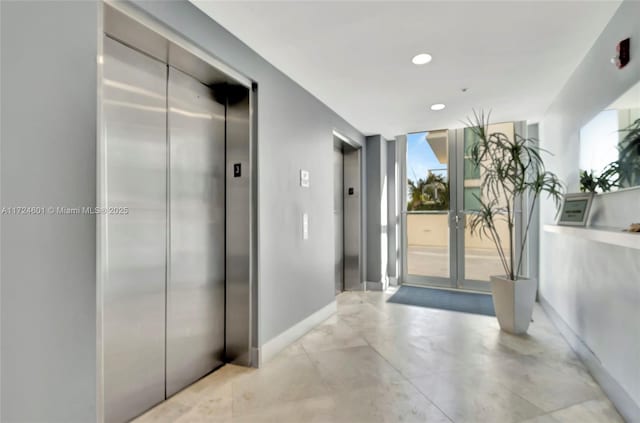
<svg viewBox="0 0 640 423">
<path fill-rule="evenodd" d="M 388 138 L 460 127 L 472 108 L 537 121 L 620 4 L 192 2 L 357 129 Z M 421 52 L 433 61 L 412 64 Z"/>
</svg>

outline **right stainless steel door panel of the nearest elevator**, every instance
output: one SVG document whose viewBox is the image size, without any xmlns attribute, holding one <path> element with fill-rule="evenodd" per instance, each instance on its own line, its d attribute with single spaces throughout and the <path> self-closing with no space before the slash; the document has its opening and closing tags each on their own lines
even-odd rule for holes
<svg viewBox="0 0 640 423">
<path fill-rule="evenodd" d="M 225 106 L 169 67 L 166 392 L 222 365 L 225 330 Z"/>
</svg>

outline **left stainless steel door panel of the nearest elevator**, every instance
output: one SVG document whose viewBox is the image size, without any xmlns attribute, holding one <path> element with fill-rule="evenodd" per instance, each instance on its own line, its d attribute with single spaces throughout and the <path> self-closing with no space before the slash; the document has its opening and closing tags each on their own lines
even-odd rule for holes
<svg viewBox="0 0 640 423">
<path fill-rule="evenodd" d="M 105 421 L 165 398 L 166 65 L 104 39 Z"/>
</svg>

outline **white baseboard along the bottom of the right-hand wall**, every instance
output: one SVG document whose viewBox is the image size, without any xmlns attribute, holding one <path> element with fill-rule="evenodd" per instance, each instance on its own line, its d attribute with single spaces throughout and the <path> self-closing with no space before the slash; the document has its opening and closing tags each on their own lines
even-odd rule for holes
<svg viewBox="0 0 640 423">
<path fill-rule="evenodd" d="M 602 390 L 607 394 L 625 421 L 629 423 L 639 423 L 640 406 L 633 401 L 627 391 L 609 374 L 602 366 L 602 363 L 600 363 L 598 357 L 593 354 L 591 349 L 585 345 L 582 339 L 576 335 L 542 295 L 540 296 L 540 305 L 564 339 L 566 339 L 571 348 L 578 357 L 580 357 L 580 360 L 587 366 L 591 376 L 600 384 Z"/>
</svg>

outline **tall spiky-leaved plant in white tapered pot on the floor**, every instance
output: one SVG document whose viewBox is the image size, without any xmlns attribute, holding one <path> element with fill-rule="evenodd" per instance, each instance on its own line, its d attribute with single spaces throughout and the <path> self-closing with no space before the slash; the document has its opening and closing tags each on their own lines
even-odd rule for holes
<svg viewBox="0 0 640 423">
<path fill-rule="evenodd" d="M 471 233 L 491 238 L 504 268 L 503 275 L 491 276 L 493 305 L 500 328 L 523 334 L 529 328 L 537 290 L 535 279 L 521 275 L 533 209 L 542 193 L 547 193 L 558 207 L 562 184 L 545 169 L 535 139 L 515 134 L 512 140 L 503 133 L 489 133 L 489 114 L 485 116 L 484 112 L 474 111 L 469 126 L 476 139 L 467 154 L 480 170 L 480 196 L 476 196 L 479 210 L 470 217 Z M 525 205 L 527 213 L 521 213 Z M 516 219 L 520 216 L 526 222 L 522 222 L 522 245 L 518 247 L 514 238 Z M 508 243 L 501 239 L 499 224 L 508 227 Z"/>
</svg>

